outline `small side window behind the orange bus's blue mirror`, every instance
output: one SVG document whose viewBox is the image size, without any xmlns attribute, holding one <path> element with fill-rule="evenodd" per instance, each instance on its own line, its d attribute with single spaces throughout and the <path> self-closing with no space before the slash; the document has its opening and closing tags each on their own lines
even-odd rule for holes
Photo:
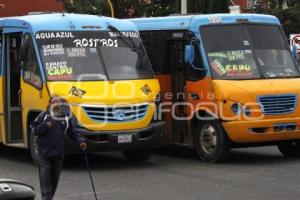
<svg viewBox="0 0 300 200">
<path fill-rule="evenodd" d="M 193 63 L 194 69 L 192 66 L 188 66 L 188 79 L 191 81 L 197 81 L 205 77 L 205 68 L 202 60 L 202 55 L 198 46 L 195 46 L 195 61 Z"/>
</svg>

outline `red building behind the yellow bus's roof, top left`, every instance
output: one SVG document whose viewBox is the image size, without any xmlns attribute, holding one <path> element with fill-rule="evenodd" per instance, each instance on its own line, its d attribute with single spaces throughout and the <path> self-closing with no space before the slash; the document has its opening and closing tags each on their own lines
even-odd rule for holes
<svg viewBox="0 0 300 200">
<path fill-rule="evenodd" d="M 0 0 L 0 17 L 26 15 L 30 12 L 63 12 L 61 0 Z"/>
</svg>

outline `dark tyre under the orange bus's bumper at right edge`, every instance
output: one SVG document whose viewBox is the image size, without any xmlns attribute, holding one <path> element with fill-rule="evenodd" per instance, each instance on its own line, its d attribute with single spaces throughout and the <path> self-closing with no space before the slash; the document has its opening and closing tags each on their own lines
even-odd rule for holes
<svg viewBox="0 0 300 200">
<path fill-rule="evenodd" d="M 288 141 L 277 145 L 282 155 L 286 157 L 300 157 L 300 142 Z"/>
</svg>

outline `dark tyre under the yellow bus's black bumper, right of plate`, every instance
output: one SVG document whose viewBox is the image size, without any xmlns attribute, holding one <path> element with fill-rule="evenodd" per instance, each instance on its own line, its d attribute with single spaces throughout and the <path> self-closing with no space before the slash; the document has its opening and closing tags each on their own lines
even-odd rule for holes
<svg viewBox="0 0 300 200">
<path fill-rule="evenodd" d="M 128 161 L 137 163 L 146 162 L 151 157 L 152 153 L 153 149 L 123 151 L 123 154 Z"/>
</svg>

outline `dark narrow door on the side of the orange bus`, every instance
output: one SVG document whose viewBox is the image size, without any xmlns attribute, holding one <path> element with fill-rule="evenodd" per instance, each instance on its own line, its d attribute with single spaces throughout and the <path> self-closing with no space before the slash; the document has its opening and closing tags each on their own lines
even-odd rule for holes
<svg viewBox="0 0 300 200">
<path fill-rule="evenodd" d="M 168 40 L 168 66 L 171 73 L 171 92 L 172 103 L 175 112 L 172 114 L 172 140 L 176 143 L 182 143 L 186 133 L 186 120 L 184 118 L 185 106 L 183 105 L 186 97 L 186 72 L 184 67 L 184 46 L 185 40 Z"/>
</svg>

